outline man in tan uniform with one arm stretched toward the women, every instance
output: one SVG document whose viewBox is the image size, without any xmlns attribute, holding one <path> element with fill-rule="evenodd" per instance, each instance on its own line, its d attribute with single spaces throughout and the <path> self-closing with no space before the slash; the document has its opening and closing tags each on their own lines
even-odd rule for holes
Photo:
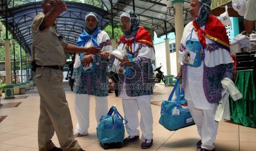
<svg viewBox="0 0 256 151">
<path fill-rule="evenodd" d="M 66 63 L 64 51 L 72 53 L 99 53 L 96 47 L 84 48 L 68 44 L 56 28 L 56 18 L 67 9 L 61 0 L 44 0 L 43 13 L 37 15 L 31 25 L 31 54 L 36 62 L 35 82 L 40 95 L 38 127 L 39 151 L 82 151 L 74 140 L 73 124 L 66 95 L 62 87 L 62 69 Z M 61 148 L 51 141 L 56 132 Z"/>
</svg>

